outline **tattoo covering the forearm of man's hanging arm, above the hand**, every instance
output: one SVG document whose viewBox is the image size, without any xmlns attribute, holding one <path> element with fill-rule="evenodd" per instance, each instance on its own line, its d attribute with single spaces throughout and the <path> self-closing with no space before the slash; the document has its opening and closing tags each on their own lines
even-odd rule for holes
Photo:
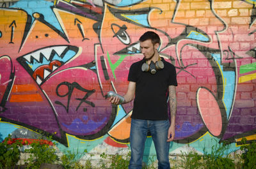
<svg viewBox="0 0 256 169">
<path fill-rule="evenodd" d="M 176 96 L 176 86 L 169 86 L 169 103 L 170 103 L 170 111 L 171 117 L 175 119 L 177 112 L 177 96 Z"/>
</svg>

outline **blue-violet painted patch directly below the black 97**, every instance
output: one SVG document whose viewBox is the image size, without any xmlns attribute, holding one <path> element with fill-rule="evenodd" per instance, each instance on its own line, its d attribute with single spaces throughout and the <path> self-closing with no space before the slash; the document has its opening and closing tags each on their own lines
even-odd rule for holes
<svg viewBox="0 0 256 169">
<path fill-rule="evenodd" d="M 87 120 L 88 117 L 86 115 L 83 116 L 83 120 Z M 91 133 L 92 131 L 95 131 L 97 128 L 99 128 L 100 126 L 102 126 L 104 124 L 104 122 L 106 122 L 107 118 L 104 117 L 104 119 L 102 119 L 102 121 L 88 121 L 86 124 L 84 124 L 83 121 L 81 121 L 81 119 L 74 119 L 74 121 L 72 121 L 72 123 L 70 125 L 67 125 L 65 123 L 62 123 L 63 126 L 65 126 L 65 128 L 69 129 L 70 131 L 74 131 L 76 133 L 81 133 L 81 134 L 87 134 L 87 133 Z"/>
</svg>

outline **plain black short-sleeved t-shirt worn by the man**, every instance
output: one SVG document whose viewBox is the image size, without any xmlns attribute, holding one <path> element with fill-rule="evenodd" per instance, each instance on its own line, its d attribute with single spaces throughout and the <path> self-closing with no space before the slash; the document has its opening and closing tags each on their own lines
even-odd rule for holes
<svg viewBox="0 0 256 169">
<path fill-rule="evenodd" d="M 152 75 L 141 70 L 145 59 L 131 65 L 128 81 L 136 82 L 132 119 L 167 120 L 168 119 L 168 86 L 177 86 L 175 66 L 164 61 L 164 68 Z"/>
</svg>

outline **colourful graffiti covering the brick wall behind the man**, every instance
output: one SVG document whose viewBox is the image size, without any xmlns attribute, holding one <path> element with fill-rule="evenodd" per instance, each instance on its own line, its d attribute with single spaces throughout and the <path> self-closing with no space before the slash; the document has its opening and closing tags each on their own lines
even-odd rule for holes
<svg viewBox="0 0 256 169">
<path fill-rule="evenodd" d="M 129 147 L 129 67 L 143 58 L 138 36 L 156 31 L 177 70 L 170 152 L 202 152 L 212 138 L 239 149 L 255 140 L 255 1 L 27 1 L 0 8 L 0 140 L 52 135 L 60 149 Z M 40 8 L 35 8 L 40 6 Z M 148 137 L 147 146 L 154 153 Z M 202 142 L 204 140 L 204 142 Z M 230 149 L 231 151 L 231 149 Z M 149 153 L 149 152 L 148 152 Z"/>
</svg>

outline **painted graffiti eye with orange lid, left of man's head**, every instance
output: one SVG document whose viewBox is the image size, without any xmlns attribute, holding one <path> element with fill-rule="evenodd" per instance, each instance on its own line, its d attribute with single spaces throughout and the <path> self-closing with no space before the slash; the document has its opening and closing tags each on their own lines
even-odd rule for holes
<svg viewBox="0 0 256 169">
<path fill-rule="evenodd" d="M 125 45 L 129 45 L 131 43 L 130 37 L 125 31 L 127 27 L 123 25 L 122 27 L 118 26 L 117 24 L 111 24 L 111 29 L 114 33 L 113 37 L 117 37 L 118 40 L 122 41 Z"/>
</svg>

